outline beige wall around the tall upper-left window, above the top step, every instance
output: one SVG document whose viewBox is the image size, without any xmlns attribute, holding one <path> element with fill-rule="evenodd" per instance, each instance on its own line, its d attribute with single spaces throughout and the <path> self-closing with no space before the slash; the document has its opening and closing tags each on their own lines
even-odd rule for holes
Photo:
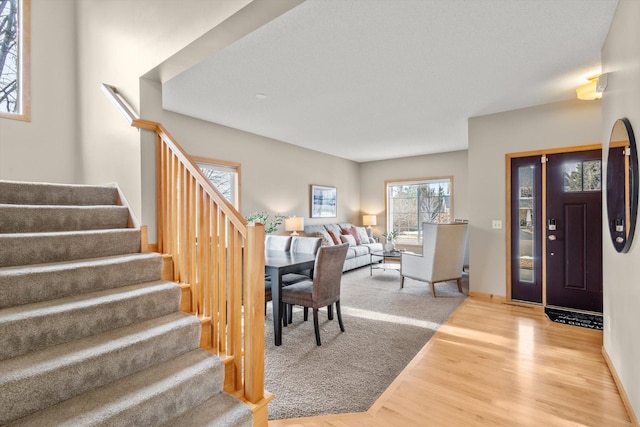
<svg viewBox="0 0 640 427">
<path fill-rule="evenodd" d="M 0 117 L 0 179 L 73 183 L 75 1 L 31 1 L 31 121 Z"/>
</svg>

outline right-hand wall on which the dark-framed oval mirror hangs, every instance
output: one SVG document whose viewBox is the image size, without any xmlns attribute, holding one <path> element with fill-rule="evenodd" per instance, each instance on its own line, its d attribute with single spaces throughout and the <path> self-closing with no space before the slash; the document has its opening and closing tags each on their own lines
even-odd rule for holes
<svg viewBox="0 0 640 427">
<path fill-rule="evenodd" d="M 602 49 L 608 86 L 602 99 L 605 152 L 616 119 L 627 117 L 640 135 L 640 2 L 620 0 Z M 606 209 L 604 211 L 606 218 Z M 636 229 L 637 230 L 637 229 Z M 604 347 L 624 386 L 636 417 L 640 415 L 640 243 L 619 254 L 604 227 Z"/>
</svg>

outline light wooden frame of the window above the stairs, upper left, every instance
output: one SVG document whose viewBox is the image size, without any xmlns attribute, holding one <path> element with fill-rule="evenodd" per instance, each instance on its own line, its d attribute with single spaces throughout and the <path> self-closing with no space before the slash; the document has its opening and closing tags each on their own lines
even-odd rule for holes
<svg viewBox="0 0 640 427">
<path fill-rule="evenodd" d="M 0 118 L 31 121 L 31 0 L 18 0 L 19 112 L 0 111 Z"/>
</svg>

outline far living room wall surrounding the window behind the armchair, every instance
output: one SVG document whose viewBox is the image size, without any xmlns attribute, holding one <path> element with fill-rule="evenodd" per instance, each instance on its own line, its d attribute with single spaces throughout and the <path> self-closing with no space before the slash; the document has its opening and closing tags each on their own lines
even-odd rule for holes
<svg viewBox="0 0 640 427">
<path fill-rule="evenodd" d="M 385 231 L 385 180 L 453 176 L 453 215 L 469 217 L 467 151 L 380 160 L 360 165 L 361 214 L 375 214 L 373 234 Z M 362 224 L 362 216 L 357 221 Z"/>
</svg>

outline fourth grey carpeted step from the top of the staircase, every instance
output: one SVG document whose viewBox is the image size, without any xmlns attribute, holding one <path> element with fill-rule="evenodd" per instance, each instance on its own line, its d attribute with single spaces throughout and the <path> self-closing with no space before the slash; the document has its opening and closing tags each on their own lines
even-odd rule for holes
<svg viewBox="0 0 640 427">
<path fill-rule="evenodd" d="M 0 269 L 0 309 L 159 280 L 162 257 L 132 254 Z"/>
</svg>

